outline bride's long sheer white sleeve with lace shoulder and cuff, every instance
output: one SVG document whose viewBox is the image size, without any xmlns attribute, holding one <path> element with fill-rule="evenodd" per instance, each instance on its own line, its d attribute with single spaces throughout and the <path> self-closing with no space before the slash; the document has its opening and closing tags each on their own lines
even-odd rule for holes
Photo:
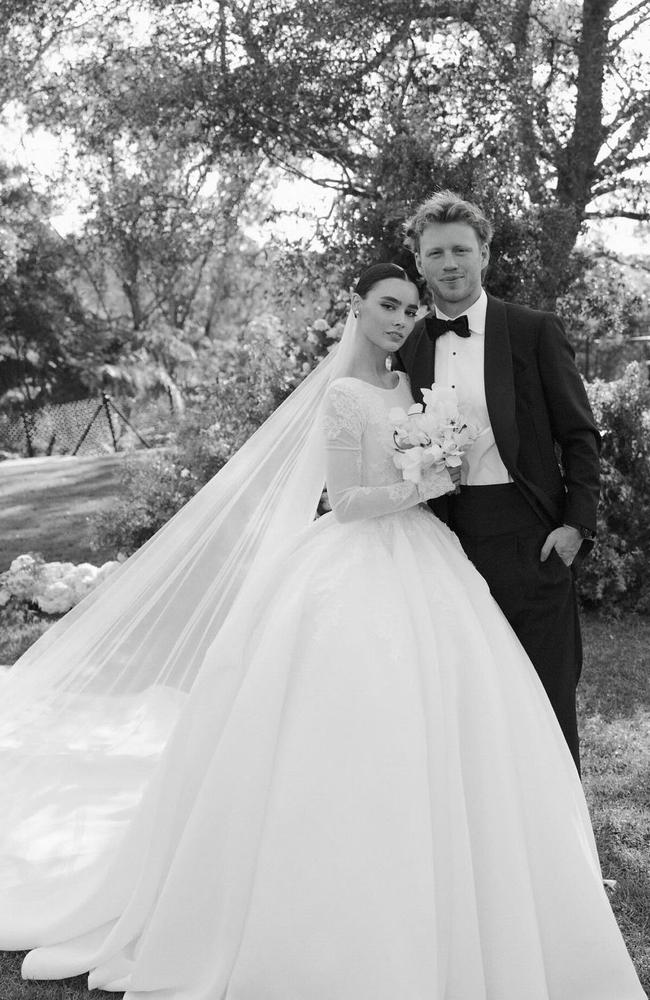
<svg viewBox="0 0 650 1000">
<path fill-rule="evenodd" d="M 363 485 L 363 407 L 347 386 L 332 385 L 324 402 L 326 481 L 330 505 L 338 521 L 380 517 L 414 507 L 453 489 L 446 470 L 431 471 L 421 484 L 398 481 Z"/>
</svg>

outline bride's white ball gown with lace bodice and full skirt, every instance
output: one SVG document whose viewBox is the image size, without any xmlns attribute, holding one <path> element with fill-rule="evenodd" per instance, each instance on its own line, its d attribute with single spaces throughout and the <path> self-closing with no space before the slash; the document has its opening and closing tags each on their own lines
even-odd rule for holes
<svg viewBox="0 0 650 1000">
<path fill-rule="evenodd" d="M 140 804 L 135 741 L 93 789 L 94 849 L 25 892 L 16 847 L 0 945 L 38 946 L 27 977 L 90 969 L 129 1000 L 644 997 L 541 684 L 393 464 L 398 378 L 331 385 L 335 513 L 245 587 Z"/>
</svg>

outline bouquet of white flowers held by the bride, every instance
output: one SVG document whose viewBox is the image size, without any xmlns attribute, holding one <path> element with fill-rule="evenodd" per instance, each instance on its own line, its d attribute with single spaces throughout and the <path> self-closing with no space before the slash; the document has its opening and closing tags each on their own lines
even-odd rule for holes
<svg viewBox="0 0 650 1000">
<path fill-rule="evenodd" d="M 434 382 L 422 390 L 422 398 L 424 406 L 414 403 L 408 411 L 396 406 L 388 414 L 396 448 L 393 461 L 402 478 L 413 483 L 431 466 L 459 466 L 478 437 L 478 428 L 460 413 L 454 389 Z"/>
</svg>

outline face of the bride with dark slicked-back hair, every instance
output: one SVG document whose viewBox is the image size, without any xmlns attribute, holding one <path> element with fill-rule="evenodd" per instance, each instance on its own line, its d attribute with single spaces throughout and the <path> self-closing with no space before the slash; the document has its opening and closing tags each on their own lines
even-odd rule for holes
<svg viewBox="0 0 650 1000">
<path fill-rule="evenodd" d="M 415 325 L 419 305 L 417 288 L 410 281 L 384 278 L 354 303 L 357 336 L 388 353 L 397 351 Z"/>
</svg>

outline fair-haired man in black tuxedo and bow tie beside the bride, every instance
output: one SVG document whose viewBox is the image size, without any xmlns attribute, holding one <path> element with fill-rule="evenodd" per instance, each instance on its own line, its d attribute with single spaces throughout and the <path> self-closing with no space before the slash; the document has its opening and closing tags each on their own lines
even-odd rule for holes
<svg viewBox="0 0 650 1000">
<path fill-rule="evenodd" d="M 487 295 L 492 227 L 451 191 L 424 202 L 406 245 L 434 309 L 400 349 L 417 402 L 456 389 L 480 435 L 461 489 L 432 501 L 532 660 L 578 770 L 576 686 L 582 645 L 571 564 L 593 544 L 599 435 L 574 353 L 553 313 Z"/>
</svg>

